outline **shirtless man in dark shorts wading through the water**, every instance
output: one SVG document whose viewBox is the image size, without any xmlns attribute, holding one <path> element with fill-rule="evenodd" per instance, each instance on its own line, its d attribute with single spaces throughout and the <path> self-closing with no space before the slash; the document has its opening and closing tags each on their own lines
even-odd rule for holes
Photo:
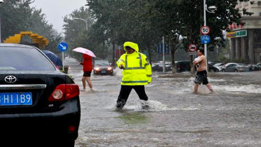
<svg viewBox="0 0 261 147">
<path fill-rule="evenodd" d="M 211 85 L 208 83 L 208 76 L 207 76 L 207 71 L 206 71 L 206 57 L 204 56 L 204 50 L 199 49 L 198 50 L 198 60 L 193 61 L 193 65 L 196 66 L 199 63 L 199 67 L 197 67 L 197 74 L 195 77 L 195 87 L 194 87 L 194 92 L 198 92 L 198 84 L 203 84 L 208 87 L 208 89 L 213 92 L 213 89 Z"/>
</svg>

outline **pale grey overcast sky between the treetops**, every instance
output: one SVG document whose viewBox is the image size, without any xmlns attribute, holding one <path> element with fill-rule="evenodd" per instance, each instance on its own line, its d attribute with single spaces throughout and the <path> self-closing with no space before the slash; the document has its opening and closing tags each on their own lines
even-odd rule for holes
<svg viewBox="0 0 261 147">
<path fill-rule="evenodd" d="M 86 4 L 86 0 L 34 0 L 32 7 L 42 9 L 46 20 L 58 32 L 63 32 L 63 17 Z"/>
</svg>

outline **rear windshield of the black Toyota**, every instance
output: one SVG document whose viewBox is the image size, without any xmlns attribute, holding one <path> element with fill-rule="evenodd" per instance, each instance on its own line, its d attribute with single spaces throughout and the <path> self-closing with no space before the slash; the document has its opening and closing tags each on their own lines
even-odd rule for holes
<svg viewBox="0 0 261 147">
<path fill-rule="evenodd" d="M 0 47 L 0 70 L 55 70 L 35 48 Z"/>
</svg>

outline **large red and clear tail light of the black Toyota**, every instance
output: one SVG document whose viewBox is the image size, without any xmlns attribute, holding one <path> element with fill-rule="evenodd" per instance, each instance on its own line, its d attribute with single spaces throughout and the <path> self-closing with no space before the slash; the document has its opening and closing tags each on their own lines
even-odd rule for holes
<svg viewBox="0 0 261 147">
<path fill-rule="evenodd" d="M 80 95 L 79 86 L 76 84 L 60 84 L 49 96 L 48 101 L 64 101 Z"/>
</svg>

